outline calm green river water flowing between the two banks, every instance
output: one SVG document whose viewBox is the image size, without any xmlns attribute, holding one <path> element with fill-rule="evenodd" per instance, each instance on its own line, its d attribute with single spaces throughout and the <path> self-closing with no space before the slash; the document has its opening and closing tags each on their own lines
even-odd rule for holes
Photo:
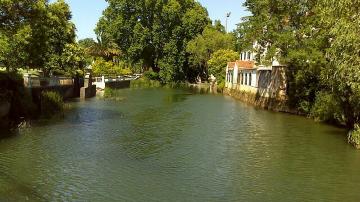
<svg viewBox="0 0 360 202">
<path fill-rule="evenodd" d="M 346 131 L 148 88 L 69 103 L 0 140 L 0 201 L 360 201 Z"/>
</svg>

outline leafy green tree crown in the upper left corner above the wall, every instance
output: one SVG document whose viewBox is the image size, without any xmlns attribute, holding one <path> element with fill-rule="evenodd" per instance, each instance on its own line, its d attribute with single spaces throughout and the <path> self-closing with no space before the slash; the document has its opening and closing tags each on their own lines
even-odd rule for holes
<svg viewBox="0 0 360 202">
<path fill-rule="evenodd" d="M 64 0 L 2 0 L 0 3 L 0 63 L 7 70 L 59 70 L 71 74 L 79 68 L 75 26 Z M 74 61 L 71 61 L 74 60 Z"/>
</svg>

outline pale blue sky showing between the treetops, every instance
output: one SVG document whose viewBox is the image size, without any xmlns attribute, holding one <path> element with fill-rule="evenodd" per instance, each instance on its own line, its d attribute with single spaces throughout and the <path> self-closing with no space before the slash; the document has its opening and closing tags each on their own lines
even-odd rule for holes
<svg viewBox="0 0 360 202">
<path fill-rule="evenodd" d="M 107 3 L 104 0 L 66 0 L 72 10 L 78 39 L 96 38 L 94 29 Z M 198 0 L 209 11 L 212 20 L 220 19 L 225 25 L 225 15 L 231 12 L 229 31 L 236 28 L 241 17 L 248 15 L 242 7 L 244 0 Z"/>
</svg>

